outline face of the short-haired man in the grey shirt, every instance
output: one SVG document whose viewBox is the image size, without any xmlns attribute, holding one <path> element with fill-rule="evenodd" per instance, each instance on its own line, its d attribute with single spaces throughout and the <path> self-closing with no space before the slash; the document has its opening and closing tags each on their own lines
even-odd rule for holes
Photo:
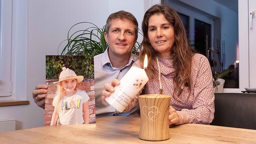
<svg viewBox="0 0 256 144">
<path fill-rule="evenodd" d="M 109 56 L 117 57 L 130 55 L 137 40 L 132 21 L 119 18 L 112 20 L 108 34 L 105 32 L 104 36 L 109 45 Z"/>
</svg>

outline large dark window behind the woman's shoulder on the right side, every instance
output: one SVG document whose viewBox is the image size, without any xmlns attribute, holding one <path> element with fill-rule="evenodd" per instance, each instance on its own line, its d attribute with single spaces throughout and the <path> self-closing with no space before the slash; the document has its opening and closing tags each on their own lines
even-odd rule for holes
<svg viewBox="0 0 256 144">
<path fill-rule="evenodd" d="M 209 62 L 211 66 L 214 63 L 217 74 L 225 69 L 231 69 L 228 76 L 223 77 L 225 79 L 224 88 L 226 88 L 223 92 L 241 92 L 244 90 L 245 85 L 241 87 L 239 85 L 241 63 L 236 63 L 239 62 L 237 60 L 239 60 L 240 53 L 238 51 L 237 1 L 232 2 L 232 8 L 228 1 L 217 0 L 186 2 L 163 0 L 163 2 L 179 13 L 184 26 L 189 31 L 188 38 L 192 47 L 207 56 L 207 48 L 214 46 L 215 60 L 213 61 L 213 54 L 209 53 Z M 188 26 L 186 26 L 187 20 L 189 20 Z M 208 36 L 207 47 L 206 36 Z M 244 75 L 246 71 L 242 73 Z"/>
</svg>

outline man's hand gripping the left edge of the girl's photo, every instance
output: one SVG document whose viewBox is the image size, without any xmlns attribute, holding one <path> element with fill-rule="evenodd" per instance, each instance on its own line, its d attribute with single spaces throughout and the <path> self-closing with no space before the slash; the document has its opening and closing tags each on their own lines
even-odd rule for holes
<svg viewBox="0 0 256 144">
<path fill-rule="evenodd" d="M 35 90 L 33 90 L 33 99 L 37 106 L 44 109 L 45 106 L 45 97 L 47 96 L 48 86 L 45 84 L 39 84 L 36 86 Z"/>
</svg>

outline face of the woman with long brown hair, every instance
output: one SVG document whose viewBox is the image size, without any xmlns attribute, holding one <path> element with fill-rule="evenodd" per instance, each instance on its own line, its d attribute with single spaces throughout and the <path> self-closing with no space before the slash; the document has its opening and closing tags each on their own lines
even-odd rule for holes
<svg viewBox="0 0 256 144">
<path fill-rule="evenodd" d="M 159 57 L 172 59 L 171 49 L 175 42 L 174 28 L 163 14 L 155 14 L 148 20 L 148 38 Z"/>
</svg>

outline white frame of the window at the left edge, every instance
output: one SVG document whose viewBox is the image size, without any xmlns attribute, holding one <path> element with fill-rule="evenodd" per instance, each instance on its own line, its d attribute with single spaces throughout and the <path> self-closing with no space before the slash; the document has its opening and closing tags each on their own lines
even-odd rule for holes
<svg viewBox="0 0 256 144">
<path fill-rule="evenodd" d="M 0 0 L 7 1 L 7 0 Z M 26 100 L 27 79 L 26 79 L 26 54 L 27 54 L 27 0 L 8 0 L 9 23 L 9 53 L 5 56 L 8 59 L 8 73 L 3 75 L 9 78 L 10 96 L 0 96 L 0 101 L 5 100 Z M 6 8 L 6 6 L 5 6 Z M 1 27 L 2 28 L 2 27 Z M 4 27 L 5 28 L 5 27 Z M 2 28 L 3 29 L 3 28 Z M 1 55 L 1 54 L 0 54 Z M 0 59 L 1 62 L 1 59 Z M 7 67 L 7 66 L 6 66 Z M 0 66 L 1 68 L 1 66 Z M 2 69 L 2 68 L 1 68 Z M 1 71 L 0 69 L 0 71 Z"/>
</svg>

